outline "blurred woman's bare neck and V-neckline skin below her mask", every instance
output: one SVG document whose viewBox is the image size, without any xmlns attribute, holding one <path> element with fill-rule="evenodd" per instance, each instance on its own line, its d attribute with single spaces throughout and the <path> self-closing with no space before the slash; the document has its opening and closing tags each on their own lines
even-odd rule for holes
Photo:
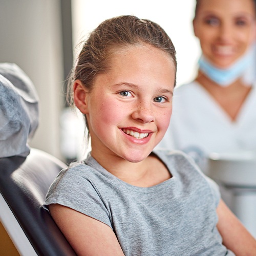
<svg viewBox="0 0 256 256">
<path fill-rule="evenodd" d="M 195 80 L 216 100 L 231 121 L 237 120 L 251 87 L 246 86 L 240 78 L 232 82 L 228 87 L 222 87 L 210 80 L 201 71 L 198 72 Z"/>
</svg>

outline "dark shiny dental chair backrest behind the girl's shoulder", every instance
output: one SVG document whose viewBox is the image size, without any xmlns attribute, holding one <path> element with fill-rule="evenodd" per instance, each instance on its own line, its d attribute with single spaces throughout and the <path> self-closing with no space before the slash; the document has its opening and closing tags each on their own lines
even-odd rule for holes
<svg viewBox="0 0 256 256">
<path fill-rule="evenodd" d="M 50 184 L 66 167 L 53 156 L 34 148 L 26 159 L 18 156 L 0 158 L 1 194 L 38 255 L 75 255 L 49 212 L 42 208 Z M 2 206 L 3 225 L 12 224 L 5 221 L 1 211 Z M 17 236 L 11 238 L 18 247 Z"/>
</svg>

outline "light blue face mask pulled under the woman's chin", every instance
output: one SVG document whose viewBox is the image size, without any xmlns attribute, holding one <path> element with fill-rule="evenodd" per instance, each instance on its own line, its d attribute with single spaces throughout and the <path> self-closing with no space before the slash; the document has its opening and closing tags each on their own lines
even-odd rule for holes
<svg viewBox="0 0 256 256">
<path fill-rule="evenodd" d="M 215 81 L 220 86 L 227 87 L 239 77 L 242 77 L 248 67 L 253 65 L 253 57 L 252 52 L 248 51 L 242 58 L 227 69 L 214 67 L 203 55 L 200 57 L 198 63 L 199 69 L 212 81 Z"/>
</svg>

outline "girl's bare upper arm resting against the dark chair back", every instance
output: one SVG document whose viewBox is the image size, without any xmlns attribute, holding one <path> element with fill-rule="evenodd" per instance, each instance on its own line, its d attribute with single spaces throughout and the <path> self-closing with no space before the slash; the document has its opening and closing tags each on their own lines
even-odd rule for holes
<svg viewBox="0 0 256 256">
<path fill-rule="evenodd" d="M 124 255 L 108 225 L 59 204 L 51 204 L 49 210 L 78 255 Z"/>
</svg>

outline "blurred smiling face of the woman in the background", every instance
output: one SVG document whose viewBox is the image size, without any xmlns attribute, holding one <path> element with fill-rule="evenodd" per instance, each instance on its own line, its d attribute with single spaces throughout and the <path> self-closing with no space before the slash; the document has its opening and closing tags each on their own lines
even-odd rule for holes
<svg viewBox="0 0 256 256">
<path fill-rule="evenodd" d="M 193 22 L 204 56 L 218 68 L 227 68 L 255 39 L 252 0 L 200 0 Z"/>
</svg>

